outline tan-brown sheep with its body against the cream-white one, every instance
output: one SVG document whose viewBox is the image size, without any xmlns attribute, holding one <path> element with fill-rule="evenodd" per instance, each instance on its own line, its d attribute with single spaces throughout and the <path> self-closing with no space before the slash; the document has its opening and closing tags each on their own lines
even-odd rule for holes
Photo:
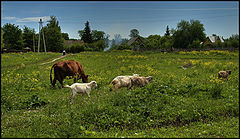
<svg viewBox="0 0 240 139">
<path fill-rule="evenodd" d="M 152 76 L 148 76 L 148 77 L 132 77 L 132 85 L 135 87 L 143 87 L 145 85 L 147 85 L 151 80 L 153 79 Z"/>
</svg>

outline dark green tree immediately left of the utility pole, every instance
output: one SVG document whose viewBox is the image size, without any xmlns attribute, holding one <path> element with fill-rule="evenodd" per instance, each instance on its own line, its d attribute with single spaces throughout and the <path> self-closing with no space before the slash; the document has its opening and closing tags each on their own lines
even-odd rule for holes
<svg viewBox="0 0 240 139">
<path fill-rule="evenodd" d="M 33 50 L 33 37 L 34 37 L 34 29 L 30 29 L 27 26 L 23 28 L 23 46 L 29 47 Z"/>
</svg>

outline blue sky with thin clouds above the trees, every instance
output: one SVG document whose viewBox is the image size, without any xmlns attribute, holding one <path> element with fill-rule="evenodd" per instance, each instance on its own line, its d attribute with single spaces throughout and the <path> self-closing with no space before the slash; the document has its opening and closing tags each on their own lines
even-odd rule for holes
<svg viewBox="0 0 240 139">
<path fill-rule="evenodd" d="M 39 19 L 47 24 L 56 16 L 62 32 L 80 39 L 89 21 L 91 30 L 130 38 L 130 30 L 139 35 L 161 35 L 167 25 L 176 29 L 181 20 L 199 20 L 207 36 L 217 34 L 229 38 L 239 34 L 238 1 L 1 1 L 1 27 L 5 23 L 26 25 L 39 30 Z"/>
</svg>

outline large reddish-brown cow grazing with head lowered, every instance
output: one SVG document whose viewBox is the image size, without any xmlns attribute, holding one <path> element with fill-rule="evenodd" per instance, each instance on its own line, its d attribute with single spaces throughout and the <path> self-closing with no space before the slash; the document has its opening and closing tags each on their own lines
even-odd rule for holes
<svg viewBox="0 0 240 139">
<path fill-rule="evenodd" d="M 54 79 L 52 81 L 53 68 L 54 68 Z M 56 80 L 58 80 L 63 88 L 63 80 L 66 78 L 66 76 L 74 77 L 74 83 L 81 78 L 82 78 L 82 82 L 88 83 L 88 75 L 84 74 L 82 65 L 77 61 L 73 61 L 73 60 L 60 61 L 55 63 L 52 66 L 50 71 L 50 81 L 53 87 L 56 84 Z"/>
</svg>

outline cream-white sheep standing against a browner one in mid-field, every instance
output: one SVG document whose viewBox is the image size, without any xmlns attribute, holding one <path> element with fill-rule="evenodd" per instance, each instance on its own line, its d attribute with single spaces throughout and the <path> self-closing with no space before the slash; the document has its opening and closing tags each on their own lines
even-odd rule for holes
<svg viewBox="0 0 240 139">
<path fill-rule="evenodd" d="M 114 90 L 117 91 L 119 88 L 121 87 L 127 87 L 127 89 L 131 89 L 132 87 L 132 81 L 131 78 L 132 77 L 139 77 L 138 74 L 133 74 L 132 76 L 117 76 L 115 77 L 111 84 L 114 87 Z"/>
</svg>

